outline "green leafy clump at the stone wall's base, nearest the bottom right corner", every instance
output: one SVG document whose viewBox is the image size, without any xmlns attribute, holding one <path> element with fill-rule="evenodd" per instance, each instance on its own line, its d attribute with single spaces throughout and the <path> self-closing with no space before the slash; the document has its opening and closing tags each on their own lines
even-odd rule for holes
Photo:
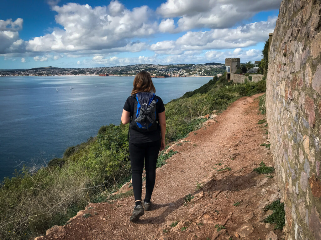
<svg viewBox="0 0 321 240">
<path fill-rule="evenodd" d="M 273 213 L 265 218 L 265 223 L 275 224 L 274 229 L 283 229 L 285 225 L 285 212 L 284 203 L 281 203 L 280 199 L 275 200 L 273 203 L 265 206 L 264 211 L 272 210 Z"/>
</svg>

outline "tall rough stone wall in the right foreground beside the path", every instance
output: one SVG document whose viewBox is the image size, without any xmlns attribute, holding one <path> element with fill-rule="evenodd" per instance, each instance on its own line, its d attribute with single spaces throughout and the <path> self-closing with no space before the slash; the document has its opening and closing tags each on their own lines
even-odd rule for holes
<svg viewBox="0 0 321 240">
<path fill-rule="evenodd" d="M 266 115 L 286 239 L 321 239 L 321 1 L 283 0 L 269 50 Z"/>
</svg>

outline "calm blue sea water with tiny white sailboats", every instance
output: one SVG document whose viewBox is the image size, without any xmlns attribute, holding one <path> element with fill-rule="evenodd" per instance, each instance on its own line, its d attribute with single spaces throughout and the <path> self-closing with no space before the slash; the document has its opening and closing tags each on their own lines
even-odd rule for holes
<svg viewBox="0 0 321 240">
<path fill-rule="evenodd" d="M 153 83 L 156 94 L 167 103 L 210 79 L 153 78 Z M 119 76 L 0 77 L 0 181 L 23 163 L 41 164 L 61 157 L 67 147 L 96 136 L 102 125 L 118 125 L 133 80 Z"/>
</svg>

